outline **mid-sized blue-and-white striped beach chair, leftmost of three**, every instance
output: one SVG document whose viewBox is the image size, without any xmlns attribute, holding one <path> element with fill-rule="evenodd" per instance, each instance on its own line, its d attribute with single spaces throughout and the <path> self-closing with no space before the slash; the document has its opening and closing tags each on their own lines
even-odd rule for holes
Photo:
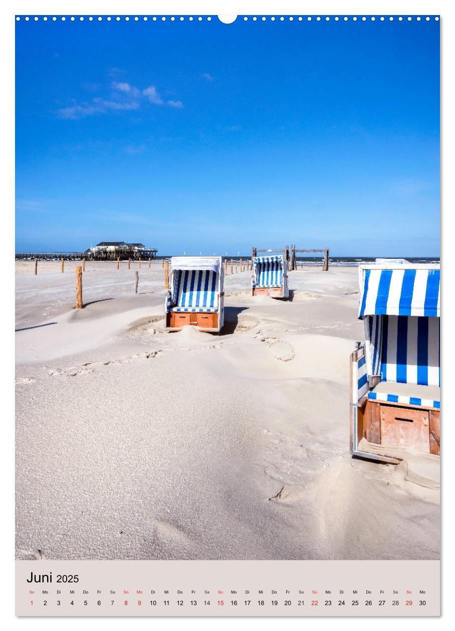
<svg viewBox="0 0 455 631">
<path fill-rule="evenodd" d="M 219 333 L 224 324 L 223 266 L 220 256 L 174 256 L 165 298 L 166 329 L 196 326 Z"/>
</svg>

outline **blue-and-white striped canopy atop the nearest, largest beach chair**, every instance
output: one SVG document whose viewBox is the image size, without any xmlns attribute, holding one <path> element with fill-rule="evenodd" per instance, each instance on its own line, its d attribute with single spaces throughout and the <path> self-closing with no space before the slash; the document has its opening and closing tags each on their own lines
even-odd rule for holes
<svg viewBox="0 0 455 631">
<path fill-rule="evenodd" d="M 440 317 L 439 268 L 360 268 L 358 317 L 418 315 Z"/>
</svg>

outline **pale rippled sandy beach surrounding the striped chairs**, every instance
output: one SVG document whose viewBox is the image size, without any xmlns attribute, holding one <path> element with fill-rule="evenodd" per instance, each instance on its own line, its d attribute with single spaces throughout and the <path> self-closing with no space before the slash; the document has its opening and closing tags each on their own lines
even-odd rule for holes
<svg viewBox="0 0 455 631">
<path fill-rule="evenodd" d="M 76 264 L 16 262 L 16 558 L 439 558 L 435 471 L 349 453 L 357 268 L 228 274 L 211 335 L 163 331 L 160 262 L 73 309 Z"/>
</svg>

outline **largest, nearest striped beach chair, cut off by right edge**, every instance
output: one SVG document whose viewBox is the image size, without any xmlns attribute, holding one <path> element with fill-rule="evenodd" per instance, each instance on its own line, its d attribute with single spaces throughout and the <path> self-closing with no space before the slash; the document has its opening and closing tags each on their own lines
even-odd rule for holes
<svg viewBox="0 0 455 631">
<path fill-rule="evenodd" d="M 351 453 L 383 461 L 396 460 L 393 447 L 438 455 L 439 265 L 362 265 L 359 283 L 365 342 L 350 363 Z"/>
</svg>

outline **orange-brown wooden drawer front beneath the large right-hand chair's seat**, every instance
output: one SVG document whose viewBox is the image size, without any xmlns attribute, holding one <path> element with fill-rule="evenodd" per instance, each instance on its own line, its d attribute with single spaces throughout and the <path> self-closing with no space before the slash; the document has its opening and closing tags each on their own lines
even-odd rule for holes
<svg viewBox="0 0 455 631">
<path fill-rule="evenodd" d="M 428 454 L 430 428 L 428 410 L 381 405 L 381 445 L 413 447 Z"/>
</svg>

